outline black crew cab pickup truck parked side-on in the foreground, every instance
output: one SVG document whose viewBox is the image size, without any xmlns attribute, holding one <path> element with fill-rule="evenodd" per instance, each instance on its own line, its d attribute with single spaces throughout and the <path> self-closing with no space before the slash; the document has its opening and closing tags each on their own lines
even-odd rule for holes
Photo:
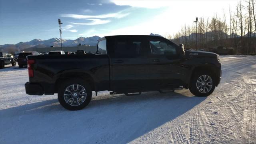
<svg viewBox="0 0 256 144">
<path fill-rule="evenodd" d="M 212 52 L 184 51 L 160 36 L 105 36 L 96 54 L 28 56 L 30 95 L 58 93 L 69 110 L 87 106 L 92 91 L 110 94 L 172 92 L 186 88 L 208 96 L 221 78 L 219 56 Z"/>
</svg>

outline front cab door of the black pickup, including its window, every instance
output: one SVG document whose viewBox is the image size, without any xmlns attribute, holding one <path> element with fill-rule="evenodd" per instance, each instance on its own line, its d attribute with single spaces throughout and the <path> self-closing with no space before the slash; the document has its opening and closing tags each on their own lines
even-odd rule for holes
<svg viewBox="0 0 256 144">
<path fill-rule="evenodd" d="M 149 38 L 151 49 L 150 73 L 153 88 L 171 88 L 182 85 L 184 70 L 182 58 L 178 54 L 178 46 L 165 38 Z"/>
</svg>

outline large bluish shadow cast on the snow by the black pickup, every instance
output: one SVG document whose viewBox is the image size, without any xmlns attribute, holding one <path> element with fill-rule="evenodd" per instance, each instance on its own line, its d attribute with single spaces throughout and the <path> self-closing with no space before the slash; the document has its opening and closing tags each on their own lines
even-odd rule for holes
<svg viewBox="0 0 256 144">
<path fill-rule="evenodd" d="M 62 108 L 57 99 L 26 104 L 0 111 L 0 142 L 128 143 L 205 99 L 176 92 L 146 92 L 139 96 L 93 96 L 79 111 Z"/>
</svg>

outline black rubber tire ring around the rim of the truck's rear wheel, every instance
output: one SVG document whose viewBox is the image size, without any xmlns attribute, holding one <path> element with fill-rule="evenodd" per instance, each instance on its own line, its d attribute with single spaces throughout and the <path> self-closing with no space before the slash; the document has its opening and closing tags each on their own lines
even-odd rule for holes
<svg viewBox="0 0 256 144">
<path fill-rule="evenodd" d="M 80 101 L 81 104 L 80 104 L 80 102 L 76 101 L 76 100 L 78 100 L 77 98 L 76 98 L 76 100 L 72 99 L 73 101 L 71 102 L 71 104 L 73 102 L 74 103 L 76 102 L 76 104 L 80 104 L 78 106 L 72 106 L 72 105 L 68 104 L 68 102 L 66 102 L 66 100 L 64 98 L 64 93 L 66 92 L 66 89 L 73 84 L 74 84 L 74 86 L 77 86 L 77 85 L 83 86 L 83 88 L 85 89 L 85 92 L 86 92 L 86 98 L 85 98 L 84 102 Z M 71 97 L 72 96 L 70 96 L 69 98 L 71 98 Z M 60 104 L 68 110 L 81 110 L 90 103 L 91 99 L 92 99 L 92 89 L 91 89 L 90 85 L 87 84 L 86 81 L 84 81 L 80 78 L 69 79 L 64 82 L 61 82 L 61 84 L 59 85 L 58 100 L 59 100 Z M 69 101 L 69 100 L 67 100 L 67 101 Z"/>
</svg>

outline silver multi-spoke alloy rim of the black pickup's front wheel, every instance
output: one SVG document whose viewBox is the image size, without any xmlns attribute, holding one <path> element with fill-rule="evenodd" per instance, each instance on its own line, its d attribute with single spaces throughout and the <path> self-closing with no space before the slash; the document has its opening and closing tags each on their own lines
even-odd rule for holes
<svg viewBox="0 0 256 144">
<path fill-rule="evenodd" d="M 212 78 L 208 75 L 202 75 L 196 81 L 196 88 L 199 92 L 205 94 L 212 89 Z"/>
</svg>

